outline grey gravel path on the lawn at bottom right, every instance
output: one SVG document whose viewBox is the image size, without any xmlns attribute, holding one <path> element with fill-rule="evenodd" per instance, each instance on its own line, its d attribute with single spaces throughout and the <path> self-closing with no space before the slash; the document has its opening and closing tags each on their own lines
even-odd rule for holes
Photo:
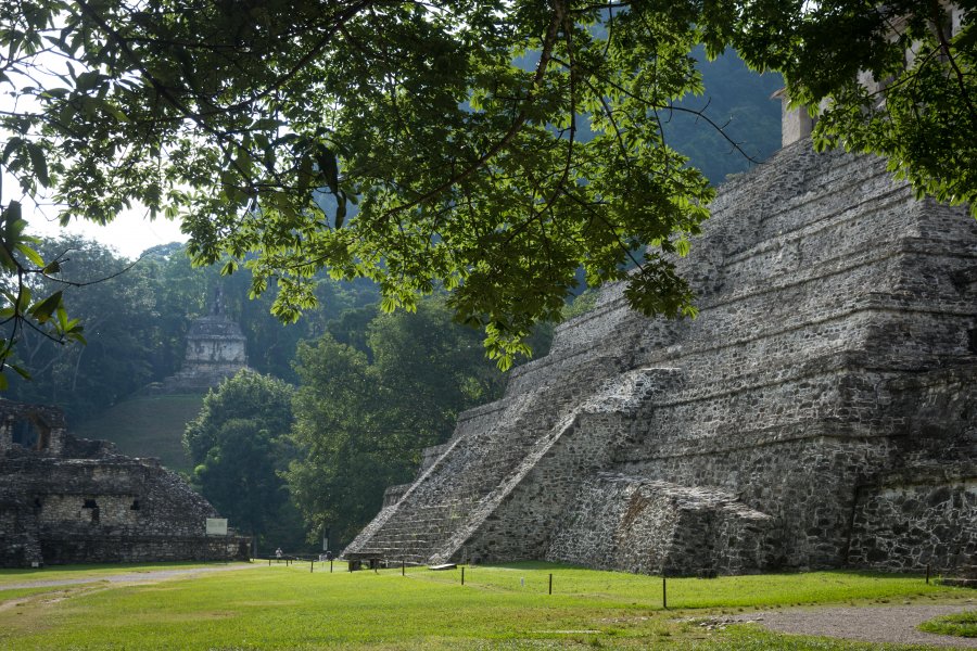
<svg viewBox="0 0 977 651">
<path fill-rule="evenodd" d="M 977 649 L 977 638 L 934 635 L 916 628 L 923 622 L 940 615 L 973 610 L 977 610 L 977 603 L 791 609 L 737 615 L 729 617 L 727 622 L 756 622 L 778 633 L 819 635 L 864 642 Z"/>
</svg>

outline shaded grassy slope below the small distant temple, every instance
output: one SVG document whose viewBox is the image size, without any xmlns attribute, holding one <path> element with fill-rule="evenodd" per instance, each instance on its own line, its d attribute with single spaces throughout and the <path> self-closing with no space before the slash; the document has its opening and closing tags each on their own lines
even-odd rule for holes
<svg viewBox="0 0 977 651">
<path fill-rule="evenodd" d="M 196 418 L 202 395 L 144 396 L 132 398 L 72 433 L 85 438 L 111 441 L 130 457 L 158 457 L 166 468 L 189 471 L 190 461 L 180 437 L 187 423 Z"/>
</svg>

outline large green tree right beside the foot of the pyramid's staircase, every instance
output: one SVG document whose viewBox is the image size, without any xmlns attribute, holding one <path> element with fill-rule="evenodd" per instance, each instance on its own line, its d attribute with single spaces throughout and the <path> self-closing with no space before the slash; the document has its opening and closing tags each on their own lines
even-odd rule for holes
<svg viewBox="0 0 977 651">
<path fill-rule="evenodd" d="M 348 312 L 347 312 L 348 314 Z M 441 297 L 416 315 L 379 315 L 364 349 L 333 332 L 302 342 L 295 359 L 289 490 L 313 532 L 350 541 L 380 509 L 388 486 L 411 478 L 422 450 L 451 436 L 458 414 L 502 394 L 504 375 L 477 333 L 451 320 Z M 345 337 L 343 337 L 345 339 Z"/>
</svg>

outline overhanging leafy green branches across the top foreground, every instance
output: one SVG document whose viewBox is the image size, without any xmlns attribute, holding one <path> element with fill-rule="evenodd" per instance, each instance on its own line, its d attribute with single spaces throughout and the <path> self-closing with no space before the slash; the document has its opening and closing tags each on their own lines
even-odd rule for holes
<svg viewBox="0 0 977 651">
<path fill-rule="evenodd" d="M 253 254 L 283 320 L 321 269 L 375 280 L 385 309 L 447 288 L 506 366 L 580 266 L 645 314 L 695 312 L 673 254 L 712 191 L 661 125 L 701 89 L 697 43 L 824 100 L 820 145 L 972 201 L 973 13 L 954 31 L 938 0 L 14 0 L 0 165 L 65 221 L 141 204 L 182 220 L 199 264 Z"/>
</svg>

